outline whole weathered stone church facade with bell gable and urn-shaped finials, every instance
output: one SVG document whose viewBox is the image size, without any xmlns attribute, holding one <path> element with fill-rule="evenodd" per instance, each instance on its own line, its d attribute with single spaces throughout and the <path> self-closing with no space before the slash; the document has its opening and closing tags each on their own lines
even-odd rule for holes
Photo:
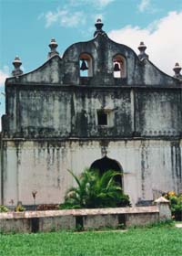
<svg viewBox="0 0 182 256">
<path fill-rule="evenodd" d="M 101 20 L 90 41 L 23 74 L 15 58 L 5 81 L 0 138 L 0 204 L 63 202 L 86 167 L 122 172 L 133 205 L 182 191 L 182 79 L 170 77 L 107 37 Z"/>
</svg>

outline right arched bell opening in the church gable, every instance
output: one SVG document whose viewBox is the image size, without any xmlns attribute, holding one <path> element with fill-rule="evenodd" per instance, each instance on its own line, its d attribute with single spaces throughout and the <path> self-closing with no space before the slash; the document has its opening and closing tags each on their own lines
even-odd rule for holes
<svg viewBox="0 0 182 256">
<path fill-rule="evenodd" d="M 113 59 L 114 78 L 126 78 L 126 59 L 117 54 Z"/>
</svg>

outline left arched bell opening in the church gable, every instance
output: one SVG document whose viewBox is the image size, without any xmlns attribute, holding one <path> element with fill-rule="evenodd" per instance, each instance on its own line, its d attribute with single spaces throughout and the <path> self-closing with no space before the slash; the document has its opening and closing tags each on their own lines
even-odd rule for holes
<svg viewBox="0 0 182 256">
<path fill-rule="evenodd" d="M 82 53 L 79 58 L 80 77 L 92 77 L 92 65 L 92 57 L 87 53 Z"/>
</svg>

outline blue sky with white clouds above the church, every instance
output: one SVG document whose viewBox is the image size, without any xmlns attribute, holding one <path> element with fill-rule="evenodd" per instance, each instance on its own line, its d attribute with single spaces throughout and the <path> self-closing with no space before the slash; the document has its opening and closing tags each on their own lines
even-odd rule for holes
<svg viewBox="0 0 182 256">
<path fill-rule="evenodd" d="M 107 35 L 133 48 L 147 45 L 149 59 L 169 75 L 182 65 L 182 0 L 0 0 L 0 93 L 18 55 L 24 72 L 42 65 L 56 38 L 60 55 L 93 37 L 96 18 Z M 0 115 L 5 96 L 0 94 Z"/>
</svg>

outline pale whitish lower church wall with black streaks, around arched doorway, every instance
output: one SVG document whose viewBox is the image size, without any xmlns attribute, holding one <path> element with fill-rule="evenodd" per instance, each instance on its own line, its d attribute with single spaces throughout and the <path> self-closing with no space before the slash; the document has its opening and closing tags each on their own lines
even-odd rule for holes
<svg viewBox="0 0 182 256">
<path fill-rule="evenodd" d="M 42 140 L 4 141 L 3 197 L 33 205 L 63 202 L 74 180 L 67 172 L 83 172 L 96 159 L 107 156 L 123 168 L 123 187 L 131 202 L 152 200 L 155 192 L 182 190 L 180 140 Z"/>
</svg>

